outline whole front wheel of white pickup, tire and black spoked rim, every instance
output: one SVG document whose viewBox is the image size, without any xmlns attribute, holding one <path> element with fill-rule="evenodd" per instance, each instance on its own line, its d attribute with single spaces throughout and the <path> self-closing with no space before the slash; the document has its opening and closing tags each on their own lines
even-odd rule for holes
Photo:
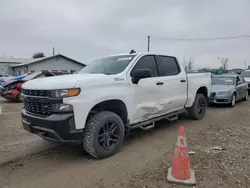
<svg viewBox="0 0 250 188">
<path fill-rule="evenodd" d="M 120 149 L 124 133 L 120 116 L 109 111 L 99 112 L 88 120 L 82 145 L 89 155 L 98 159 L 107 158 Z"/>
</svg>

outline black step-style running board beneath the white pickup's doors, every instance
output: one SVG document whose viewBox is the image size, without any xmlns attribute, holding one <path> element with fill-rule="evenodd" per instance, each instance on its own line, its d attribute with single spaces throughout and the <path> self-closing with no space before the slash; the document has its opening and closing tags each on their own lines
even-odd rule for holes
<svg viewBox="0 0 250 188">
<path fill-rule="evenodd" d="M 141 128 L 143 130 L 149 130 L 155 127 L 155 122 L 163 120 L 163 119 L 167 119 L 169 121 L 174 121 L 176 119 L 178 119 L 178 114 L 181 114 L 185 112 L 185 109 L 180 110 L 180 111 L 176 111 L 176 112 L 172 112 L 170 114 L 166 114 L 160 117 L 156 117 L 147 121 L 143 121 L 140 123 L 136 123 L 136 124 L 132 124 L 130 125 L 130 129 L 137 129 L 137 128 Z"/>
</svg>

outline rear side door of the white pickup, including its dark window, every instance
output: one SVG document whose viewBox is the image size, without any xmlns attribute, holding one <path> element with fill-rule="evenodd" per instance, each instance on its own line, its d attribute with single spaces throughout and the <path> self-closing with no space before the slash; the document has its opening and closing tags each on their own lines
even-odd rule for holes
<svg viewBox="0 0 250 188">
<path fill-rule="evenodd" d="M 166 105 L 166 113 L 184 108 L 187 101 L 187 77 L 181 70 L 176 58 L 156 56 L 159 79 L 163 82 L 160 88 L 161 103 Z"/>
</svg>

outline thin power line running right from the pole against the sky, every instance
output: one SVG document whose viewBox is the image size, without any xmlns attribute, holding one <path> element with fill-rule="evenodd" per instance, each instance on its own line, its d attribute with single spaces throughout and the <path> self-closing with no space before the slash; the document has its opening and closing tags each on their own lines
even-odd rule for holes
<svg viewBox="0 0 250 188">
<path fill-rule="evenodd" d="M 227 36 L 227 37 L 204 37 L 204 38 L 170 38 L 170 37 L 154 37 L 152 39 L 157 40 L 171 40 L 171 41 L 209 41 L 209 40 L 230 40 L 230 39 L 244 39 L 250 38 L 250 35 L 238 35 L 238 36 Z"/>
</svg>

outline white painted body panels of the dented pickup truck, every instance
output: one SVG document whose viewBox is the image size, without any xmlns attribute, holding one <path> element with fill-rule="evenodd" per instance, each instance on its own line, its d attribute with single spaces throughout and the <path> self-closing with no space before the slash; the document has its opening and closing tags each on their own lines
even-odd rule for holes
<svg viewBox="0 0 250 188">
<path fill-rule="evenodd" d="M 145 55 L 164 54 L 139 53 L 126 69 L 117 75 L 55 76 L 28 81 L 23 85 L 23 88 L 45 90 L 81 88 L 81 93 L 77 97 L 63 100 L 65 104 L 71 104 L 74 108 L 77 129 L 85 127 L 90 110 L 103 101 L 122 101 L 127 108 L 130 123 L 133 124 L 192 106 L 196 92 L 200 87 L 206 87 L 209 95 L 211 75 L 209 73 L 188 74 L 187 79 L 181 64 L 181 73 L 178 75 L 151 77 L 141 79 L 138 84 L 133 84 L 130 76 L 131 70 Z M 180 82 L 183 79 L 186 82 Z M 164 85 L 157 86 L 156 83 L 159 81 L 164 82 Z"/>
</svg>

